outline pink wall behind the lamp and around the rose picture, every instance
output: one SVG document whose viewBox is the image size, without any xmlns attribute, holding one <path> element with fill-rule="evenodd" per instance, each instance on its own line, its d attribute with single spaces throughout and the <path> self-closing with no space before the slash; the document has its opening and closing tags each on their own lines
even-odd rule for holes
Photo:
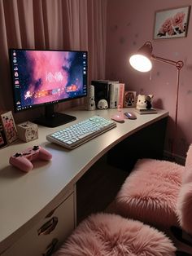
<svg viewBox="0 0 192 256">
<path fill-rule="evenodd" d="M 154 94 L 154 106 L 169 111 L 165 150 L 171 151 L 174 127 L 177 68 L 155 62 L 150 73 L 138 73 L 129 65 L 129 56 L 146 41 L 154 55 L 183 60 L 181 69 L 176 154 L 185 157 L 192 143 L 192 17 L 186 38 L 153 39 L 155 11 L 190 5 L 190 0 L 110 0 L 107 6 L 107 79 L 125 82 L 127 90 Z M 192 15 L 192 13 L 191 13 Z"/>
</svg>

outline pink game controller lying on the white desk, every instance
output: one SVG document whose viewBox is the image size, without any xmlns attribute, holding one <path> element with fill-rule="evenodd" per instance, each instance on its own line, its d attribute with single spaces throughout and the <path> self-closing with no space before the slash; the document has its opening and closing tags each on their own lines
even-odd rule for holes
<svg viewBox="0 0 192 256">
<path fill-rule="evenodd" d="M 34 159 L 41 159 L 45 161 L 50 161 L 52 155 L 50 152 L 46 151 L 45 148 L 40 146 L 34 146 L 33 148 L 27 148 L 21 153 L 15 153 L 13 157 L 10 157 L 9 162 L 12 166 L 19 168 L 25 172 L 33 169 L 33 164 L 31 161 Z"/>
</svg>

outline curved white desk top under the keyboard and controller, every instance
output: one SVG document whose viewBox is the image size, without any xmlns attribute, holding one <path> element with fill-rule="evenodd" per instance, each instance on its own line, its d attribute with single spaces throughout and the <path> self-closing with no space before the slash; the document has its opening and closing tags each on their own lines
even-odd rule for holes
<svg viewBox="0 0 192 256">
<path fill-rule="evenodd" d="M 137 114 L 137 120 L 117 123 L 115 129 L 99 135 L 72 151 L 46 141 L 46 135 L 55 130 L 61 130 L 96 114 L 110 118 L 116 111 L 116 109 L 68 111 L 69 114 L 77 117 L 76 121 L 55 128 L 39 126 L 39 139 L 29 143 L 18 141 L 0 150 L 0 254 L 36 225 L 39 219 L 44 218 L 53 207 L 59 205 L 72 189 L 75 196 L 75 184 L 78 179 L 109 149 L 137 130 L 168 117 L 168 112 L 164 110 L 159 110 L 157 114 Z M 126 108 L 123 111 L 125 112 Z M 9 165 L 11 155 L 33 145 L 41 145 L 49 150 L 53 155 L 52 161 L 34 161 L 33 170 L 27 174 Z"/>
</svg>

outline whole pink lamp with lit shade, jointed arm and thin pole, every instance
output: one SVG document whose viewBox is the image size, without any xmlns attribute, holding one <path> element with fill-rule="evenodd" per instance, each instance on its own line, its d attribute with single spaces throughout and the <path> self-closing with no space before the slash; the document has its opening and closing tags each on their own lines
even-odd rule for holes
<svg viewBox="0 0 192 256">
<path fill-rule="evenodd" d="M 173 61 L 152 54 L 153 46 L 151 42 L 146 42 L 138 51 L 137 54 L 132 55 L 129 63 L 133 68 L 140 72 L 148 72 L 152 68 L 152 60 L 159 60 L 161 62 L 171 64 L 177 68 L 177 90 L 176 90 L 176 111 L 175 111 L 175 135 L 177 135 L 177 112 L 178 112 L 178 95 L 179 95 L 179 79 L 180 70 L 183 67 L 183 61 Z M 172 145 L 173 147 L 173 145 Z M 173 151 L 173 150 L 172 150 Z"/>
</svg>

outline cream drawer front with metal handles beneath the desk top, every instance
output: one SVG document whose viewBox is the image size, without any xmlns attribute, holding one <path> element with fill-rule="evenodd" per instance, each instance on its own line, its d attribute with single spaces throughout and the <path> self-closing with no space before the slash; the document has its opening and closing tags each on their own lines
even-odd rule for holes
<svg viewBox="0 0 192 256">
<path fill-rule="evenodd" d="M 74 192 L 1 256 L 50 256 L 75 227 Z"/>
</svg>

